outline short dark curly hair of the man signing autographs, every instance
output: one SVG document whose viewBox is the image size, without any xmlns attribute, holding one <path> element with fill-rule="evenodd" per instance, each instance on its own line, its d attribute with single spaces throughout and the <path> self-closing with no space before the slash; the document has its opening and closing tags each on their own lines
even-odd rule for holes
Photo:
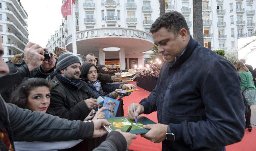
<svg viewBox="0 0 256 151">
<path fill-rule="evenodd" d="M 184 16 L 179 12 L 169 12 L 161 15 L 152 24 L 149 31 L 150 33 L 155 33 L 162 27 L 166 28 L 168 32 L 173 32 L 174 35 L 177 35 L 182 28 L 185 28 L 187 34 L 190 35 L 187 22 Z"/>
</svg>

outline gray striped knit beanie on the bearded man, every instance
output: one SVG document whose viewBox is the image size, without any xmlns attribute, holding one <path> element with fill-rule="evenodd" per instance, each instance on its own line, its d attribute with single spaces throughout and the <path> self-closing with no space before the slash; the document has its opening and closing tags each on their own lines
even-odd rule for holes
<svg viewBox="0 0 256 151">
<path fill-rule="evenodd" d="M 60 57 L 58 58 L 55 70 L 58 72 L 76 62 L 81 64 L 81 62 L 77 56 L 72 55 L 70 53 L 62 53 L 60 55 Z"/>
</svg>

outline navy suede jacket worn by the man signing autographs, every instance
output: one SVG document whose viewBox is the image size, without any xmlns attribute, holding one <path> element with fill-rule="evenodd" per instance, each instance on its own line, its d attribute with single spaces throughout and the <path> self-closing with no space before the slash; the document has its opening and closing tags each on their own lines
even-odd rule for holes
<svg viewBox="0 0 256 151">
<path fill-rule="evenodd" d="M 222 151 L 244 135 L 244 104 L 234 65 L 190 37 L 184 53 L 164 61 L 157 85 L 140 102 L 144 113 L 157 111 L 175 141 L 162 150 Z"/>
</svg>

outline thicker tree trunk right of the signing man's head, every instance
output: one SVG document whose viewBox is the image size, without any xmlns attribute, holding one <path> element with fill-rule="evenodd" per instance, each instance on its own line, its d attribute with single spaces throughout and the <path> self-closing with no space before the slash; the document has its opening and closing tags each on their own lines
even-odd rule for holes
<svg viewBox="0 0 256 151">
<path fill-rule="evenodd" d="M 193 0 L 193 37 L 204 46 L 202 0 Z"/>
</svg>

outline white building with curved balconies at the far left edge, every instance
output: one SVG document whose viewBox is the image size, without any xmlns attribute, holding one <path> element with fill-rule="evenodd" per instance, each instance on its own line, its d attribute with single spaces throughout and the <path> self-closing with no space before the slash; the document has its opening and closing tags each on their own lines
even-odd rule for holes
<svg viewBox="0 0 256 151">
<path fill-rule="evenodd" d="M 0 34 L 5 61 L 11 61 L 15 54 L 24 52 L 28 42 L 28 24 L 25 19 L 28 16 L 20 1 L 0 1 Z"/>
</svg>

